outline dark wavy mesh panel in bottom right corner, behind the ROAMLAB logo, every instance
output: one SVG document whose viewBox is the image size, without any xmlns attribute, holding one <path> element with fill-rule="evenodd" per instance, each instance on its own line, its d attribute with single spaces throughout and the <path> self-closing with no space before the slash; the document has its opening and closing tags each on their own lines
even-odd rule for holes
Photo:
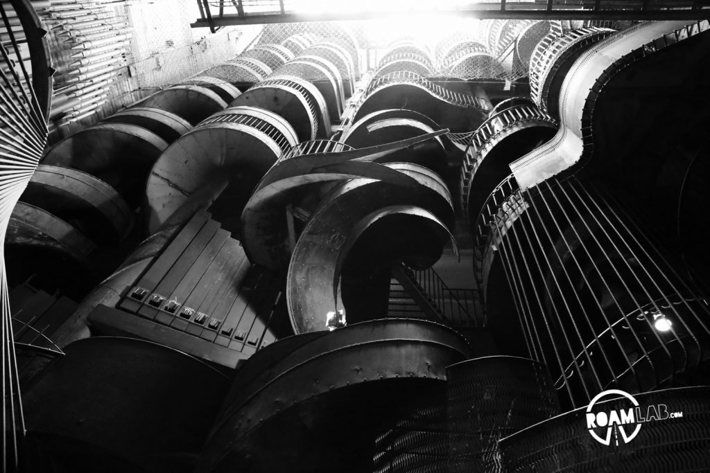
<svg viewBox="0 0 710 473">
<path fill-rule="evenodd" d="M 586 408 L 564 413 L 504 438 L 501 452 L 506 471 L 706 471 L 710 464 L 707 429 L 710 389 L 706 386 L 667 389 L 633 397 L 638 407 L 618 394 L 594 405 L 595 413 L 632 413 L 633 423 L 610 423 L 608 428 L 601 429 L 611 435 L 609 445 L 599 443 L 586 429 Z M 664 412 L 663 408 L 667 410 Z M 649 412 L 652 416 L 655 412 L 655 416 L 647 417 Z M 638 435 L 633 436 L 635 428 Z M 626 442 L 623 435 L 633 436 L 633 439 Z"/>
</svg>

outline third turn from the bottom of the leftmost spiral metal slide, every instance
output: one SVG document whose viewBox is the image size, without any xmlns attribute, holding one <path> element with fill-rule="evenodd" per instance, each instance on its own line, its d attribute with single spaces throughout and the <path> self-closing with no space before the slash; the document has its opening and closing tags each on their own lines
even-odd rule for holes
<svg viewBox="0 0 710 473">
<path fill-rule="evenodd" d="M 60 141 L 47 152 L 42 164 L 92 174 L 135 207 L 148 171 L 165 148 L 168 143 L 141 126 L 99 123 Z"/>
</svg>

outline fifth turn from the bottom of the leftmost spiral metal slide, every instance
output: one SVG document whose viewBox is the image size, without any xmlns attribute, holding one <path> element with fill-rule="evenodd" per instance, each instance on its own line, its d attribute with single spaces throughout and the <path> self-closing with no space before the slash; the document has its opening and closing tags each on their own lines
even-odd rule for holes
<svg viewBox="0 0 710 473">
<path fill-rule="evenodd" d="M 207 87 L 176 85 L 148 97 L 141 106 L 175 113 L 194 126 L 212 113 L 226 108 L 226 104 L 219 94 Z"/>
</svg>

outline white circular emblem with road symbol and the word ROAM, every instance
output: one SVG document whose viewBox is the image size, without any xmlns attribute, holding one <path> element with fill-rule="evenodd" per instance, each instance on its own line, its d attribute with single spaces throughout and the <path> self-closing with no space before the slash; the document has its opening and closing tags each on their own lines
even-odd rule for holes
<svg viewBox="0 0 710 473">
<path fill-rule="evenodd" d="M 595 408 L 594 405 L 601 399 L 610 396 L 614 399 L 619 396 L 625 397 L 629 401 L 628 407 L 618 408 L 616 411 L 604 411 L 599 407 Z M 591 436 L 603 445 L 611 443 L 612 434 L 616 445 L 619 444 L 619 438 L 621 438 L 623 443 L 629 443 L 641 430 L 641 424 L 635 416 L 635 408 L 637 407 L 638 401 L 627 392 L 621 391 L 621 389 L 602 391 L 594 396 L 589 406 L 586 407 L 586 428 Z M 603 433 L 603 435 L 599 435 L 599 433 Z"/>
</svg>

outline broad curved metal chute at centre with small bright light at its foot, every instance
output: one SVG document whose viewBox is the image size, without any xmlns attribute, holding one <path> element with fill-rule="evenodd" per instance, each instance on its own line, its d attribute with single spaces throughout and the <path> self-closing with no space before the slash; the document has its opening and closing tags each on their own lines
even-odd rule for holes
<svg viewBox="0 0 710 473">
<path fill-rule="evenodd" d="M 287 303 L 295 333 L 327 328 L 326 314 L 337 310 L 337 288 L 344 258 L 371 224 L 401 213 L 415 217 L 422 228 L 438 229 L 434 239 L 441 245 L 439 252 L 449 238 L 447 226 L 453 223 L 453 209 L 445 184 L 424 167 L 398 163 L 388 166 L 419 184 L 404 187 L 354 179 L 334 189 L 305 226 L 293 250 L 287 279 Z M 389 230 L 379 240 L 383 246 L 387 238 L 406 238 L 397 228 Z M 395 254 L 397 250 L 393 251 L 388 255 L 393 260 L 404 257 Z M 427 245 L 421 251 L 425 255 L 436 252 L 437 245 Z M 439 255 L 432 255 L 434 260 L 428 263 L 435 262 Z"/>
</svg>

